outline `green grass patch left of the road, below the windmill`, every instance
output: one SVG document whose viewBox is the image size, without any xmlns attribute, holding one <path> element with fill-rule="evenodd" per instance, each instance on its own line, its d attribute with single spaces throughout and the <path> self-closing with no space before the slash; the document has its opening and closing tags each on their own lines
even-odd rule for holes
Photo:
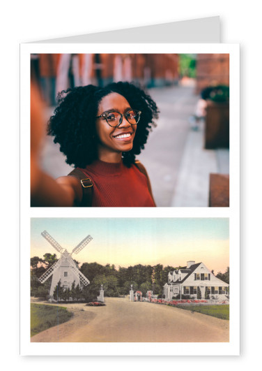
<svg viewBox="0 0 262 371">
<path fill-rule="evenodd" d="M 31 303 L 31 336 L 68 321 L 72 313 L 65 307 Z"/>
</svg>

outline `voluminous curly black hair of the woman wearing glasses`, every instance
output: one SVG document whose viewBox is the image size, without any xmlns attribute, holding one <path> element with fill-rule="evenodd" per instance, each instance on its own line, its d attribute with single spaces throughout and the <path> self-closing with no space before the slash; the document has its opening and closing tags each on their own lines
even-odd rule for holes
<svg viewBox="0 0 262 371">
<path fill-rule="evenodd" d="M 130 82 L 113 82 L 106 87 L 74 87 L 59 93 L 59 106 L 47 125 L 47 133 L 54 136 L 54 143 L 60 144 L 66 163 L 85 168 L 98 159 L 95 120 L 100 101 L 112 92 L 121 94 L 132 108 L 142 112 L 132 150 L 122 154 L 125 166 L 130 167 L 135 155 L 144 149 L 148 133 L 155 126 L 154 119 L 159 113 L 151 96 Z"/>
</svg>

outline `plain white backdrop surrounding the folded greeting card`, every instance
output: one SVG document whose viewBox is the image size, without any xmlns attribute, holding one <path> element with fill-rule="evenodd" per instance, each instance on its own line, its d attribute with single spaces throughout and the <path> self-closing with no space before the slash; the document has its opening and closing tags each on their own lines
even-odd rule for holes
<svg viewBox="0 0 262 371">
<path fill-rule="evenodd" d="M 222 42 L 242 44 L 242 355 L 240 357 L 20 357 L 19 353 L 19 44 L 197 17 L 221 17 Z M 261 324 L 261 12 L 258 1 L 79 1 L 24 0 L 1 5 L 1 340 L 4 367 L 158 368 L 239 370 L 260 364 Z M 22 130 L 22 128 L 21 128 Z M 9 169 L 9 170 L 8 170 Z M 8 171 L 7 171 L 8 170 Z M 6 173 L 8 175 L 6 176 Z M 7 223 L 6 223 L 7 222 Z M 3 279 L 8 277 L 8 279 Z M 3 290 L 7 284 L 8 289 Z M 257 285 L 257 286 L 256 286 Z M 7 295 L 4 295 L 6 292 Z M 255 297 L 257 300 L 254 300 Z M 253 298 L 253 300 L 252 300 Z M 256 336 L 257 334 L 257 336 Z M 174 344 L 176 347 L 176 344 Z M 204 344 L 203 344 L 204 347 Z M 233 363 L 233 364 L 232 364 Z"/>
</svg>

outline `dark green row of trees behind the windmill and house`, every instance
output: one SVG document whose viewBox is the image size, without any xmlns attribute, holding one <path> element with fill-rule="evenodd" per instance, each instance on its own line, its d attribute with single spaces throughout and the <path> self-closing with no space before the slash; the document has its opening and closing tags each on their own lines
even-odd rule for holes
<svg viewBox="0 0 262 371">
<path fill-rule="evenodd" d="M 31 296 L 47 298 L 52 277 L 49 277 L 44 284 L 40 284 L 38 279 L 57 260 L 56 254 L 49 253 L 45 254 L 43 259 L 40 259 L 38 256 L 31 258 Z M 79 264 L 77 261 L 75 263 Z M 82 296 L 84 300 L 91 301 L 99 295 L 101 284 L 103 285 L 105 296 L 111 297 L 128 295 L 132 284 L 133 290 L 141 291 L 143 296 L 146 296 L 146 292 L 149 290 L 152 290 L 156 295 L 162 296 L 163 286 L 167 282 L 169 272 L 179 268 L 182 267 L 171 265 L 164 267 L 162 264 L 137 264 L 128 268 L 119 266 L 116 269 L 114 264 L 83 263 L 79 270 L 88 278 L 90 284 L 80 288 L 74 283 L 71 289 L 64 290 L 60 282 L 56 286 L 54 294 L 57 296 L 59 293 L 59 297 L 63 298 L 63 300 L 68 300 L 68 298 L 73 298 L 73 296 L 78 300 Z M 217 277 L 224 282 L 229 281 L 229 268 L 224 274 L 219 272 Z"/>
</svg>

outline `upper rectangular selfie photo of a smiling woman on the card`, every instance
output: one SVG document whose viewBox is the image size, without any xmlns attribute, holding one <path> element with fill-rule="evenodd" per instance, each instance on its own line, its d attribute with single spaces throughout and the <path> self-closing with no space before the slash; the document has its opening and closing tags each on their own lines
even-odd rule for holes
<svg viewBox="0 0 262 371">
<path fill-rule="evenodd" d="M 31 54 L 31 207 L 229 208 L 229 54 Z"/>
</svg>

